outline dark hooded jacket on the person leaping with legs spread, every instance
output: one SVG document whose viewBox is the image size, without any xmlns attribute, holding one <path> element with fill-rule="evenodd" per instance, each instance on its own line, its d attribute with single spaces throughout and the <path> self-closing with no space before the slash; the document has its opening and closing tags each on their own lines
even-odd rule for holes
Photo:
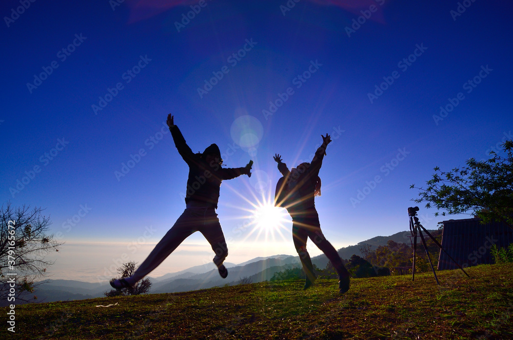
<svg viewBox="0 0 513 340">
<path fill-rule="evenodd" d="M 205 203 L 205 206 L 218 207 L 221 181 L 246 174 L 247 169 L 245 167 L 222 168 L 219 163 L 214 161 L 207 164 L 201 158 L 201 154 L 194 154 L 192 152 L 176 125 L 169 130 L 173 136 L 174 145 L 176 145 L 178 153 L 189 165 L 185 202 L 196 201 Z"/>
</svg>

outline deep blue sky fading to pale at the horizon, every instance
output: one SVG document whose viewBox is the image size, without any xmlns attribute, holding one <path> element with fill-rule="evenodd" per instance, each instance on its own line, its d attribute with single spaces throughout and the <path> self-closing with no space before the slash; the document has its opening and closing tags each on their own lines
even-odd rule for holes
<svg viewBox="0 0 513 340">
<path fill-rule="evenodd" d="M 332 136 L 316 202 L 339 249 L 407 230 L 411 184 L 511 139 L 505 0 L 0 6 L 0 198 L 50 215 L 66 242 L 53 278 L 114 276 L 106 269 L 141 262 L 183 212 L 188 168 L 168 113 L 194 152 L 216 143 L 228 167 L 254 161 L 251 178 L 221 186 L 232 263 L 295 255 L 290 217 L 266 229 L 252 214 L 273 197 L 275 153 L 295 166 Z M 435 212 L 421 206 L 428 229 L 448 219 Z M 150 275 L 212 257 L 196 233 Z"/>
</svg>

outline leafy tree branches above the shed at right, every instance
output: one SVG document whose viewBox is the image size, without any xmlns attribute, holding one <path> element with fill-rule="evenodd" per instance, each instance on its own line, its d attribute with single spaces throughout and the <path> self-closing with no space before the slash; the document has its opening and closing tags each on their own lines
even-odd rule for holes
<svg viewBox="0 0 513 340">
<path fill-rule="evenodd" d="M 435 206 L 448 214 L 471 212 L 483 223 L 502 221 L 513 229 L 513 141 L 502 147 L 504 156 L 492 151 L 488 160 L 470 158 L 465 166 L 448 172 L 435 167 L 426 188 L 410 186 L 420 190 L 420 198 L 413 201 L 426 202 L 426 208 Z"/>
</svg>

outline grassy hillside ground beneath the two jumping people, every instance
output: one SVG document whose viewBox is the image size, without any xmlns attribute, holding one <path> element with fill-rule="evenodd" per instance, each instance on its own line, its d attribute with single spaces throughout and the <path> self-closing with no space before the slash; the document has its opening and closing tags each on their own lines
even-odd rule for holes
<svg viewBox="0 0 513 340">
<path fill-rule="evenodd" d="M 513 265 L 16 306 L 16 339 L 512 339 Z M 110 307 L 95 307 L 97 305 Z M 116 305 L 117 304 L 117 305 Z M 6 315 L 7 309 L 2 309 Z M 6 337 L 3 337 L 6 338 Z"/>
</svg>

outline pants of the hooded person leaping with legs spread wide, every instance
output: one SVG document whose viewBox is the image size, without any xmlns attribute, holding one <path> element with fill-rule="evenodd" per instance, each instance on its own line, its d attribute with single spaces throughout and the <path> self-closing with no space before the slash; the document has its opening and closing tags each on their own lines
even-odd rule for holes
<svg viewBox="0 0 513 340">
<path fill-rule="evenodd" d="M 127 278 L 130 284 L 141 280 L 159 266 L 187 237 L 199 231 L 215 253 L 214 263 L 221 266 L 228 248 L 214 208 L 188 207 L 164 235 L 134 274 Z"/>
</svg>

